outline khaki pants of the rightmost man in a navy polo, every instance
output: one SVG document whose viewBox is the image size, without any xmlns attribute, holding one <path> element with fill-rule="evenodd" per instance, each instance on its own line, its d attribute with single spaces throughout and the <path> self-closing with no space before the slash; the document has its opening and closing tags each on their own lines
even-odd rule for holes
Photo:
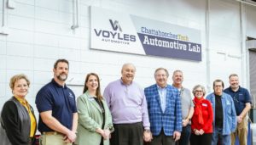
<svg viewBox="0 0 256 145">
<path fill-rule="evenodd" d="M 236 131 L 231 133 L 231 144 L 235 145 L 236 136 L 239 139 L 240 145 L 247 145 L 247 132 L 248 132 L 248 120 L 245 117 L 241 123 L 237 123 Z"/>
</svg>

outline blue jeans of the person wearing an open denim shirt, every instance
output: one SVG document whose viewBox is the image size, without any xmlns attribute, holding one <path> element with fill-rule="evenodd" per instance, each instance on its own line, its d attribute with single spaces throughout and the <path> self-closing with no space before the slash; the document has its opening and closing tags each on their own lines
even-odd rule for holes
<svg viewBox="0 0 256 145">
<path fill-rule="evenodd" d="M 212 134 L 212 145 L 217 145 L 218 139 L 220 139 L 221 145 L 230 145 L 230 135 L 222 135 L 222 128 L 215 127 Z"/>
</svg>

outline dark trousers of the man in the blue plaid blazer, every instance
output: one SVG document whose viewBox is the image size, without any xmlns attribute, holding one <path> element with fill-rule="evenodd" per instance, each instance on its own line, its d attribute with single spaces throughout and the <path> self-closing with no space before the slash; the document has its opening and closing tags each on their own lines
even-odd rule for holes
<svg viewBox="0 0 256 145">
<path fill-rule="evenodd" d="M 173 136 L 166 136 L 163 129 L 158 136 L 153 136 L 153 140 L 149 142 L 149 145 L 175 145 Z"/>
</svg>

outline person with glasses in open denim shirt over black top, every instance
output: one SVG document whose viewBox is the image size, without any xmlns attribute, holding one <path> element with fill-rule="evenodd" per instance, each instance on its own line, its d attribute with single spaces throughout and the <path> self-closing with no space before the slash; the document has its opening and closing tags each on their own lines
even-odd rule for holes
<svg viewBox="0 0 256 145">
<path fill-rule="evenodd" d="M 230 134 L 236 130 L 236 109 L 233 99 L 224 93 L 224 82 L 213 81 L 213 90 L 207 96 L 213 109 L 212 145 L 217 145 L 218 138 L 222 145 L 230 145 Z"/>
</svg>

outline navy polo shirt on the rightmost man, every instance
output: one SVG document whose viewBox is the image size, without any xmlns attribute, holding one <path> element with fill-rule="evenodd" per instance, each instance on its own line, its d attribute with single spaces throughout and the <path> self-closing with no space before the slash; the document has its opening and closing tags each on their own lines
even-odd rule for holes
<svg viewBox="0 0 256 145">
<path fill-rule="evenodd" d="M 250 93 L 246 88 L 239 86 L 239 89 L 234 92 L 231 87 L 228 87 L 224 90 L 224 92 L 230 94 L 233 98 L 236 108 L 236 115 L 240 115 L 242 110 L 245 109 L 246 103 L 252 103 Z"/>
</svg>

